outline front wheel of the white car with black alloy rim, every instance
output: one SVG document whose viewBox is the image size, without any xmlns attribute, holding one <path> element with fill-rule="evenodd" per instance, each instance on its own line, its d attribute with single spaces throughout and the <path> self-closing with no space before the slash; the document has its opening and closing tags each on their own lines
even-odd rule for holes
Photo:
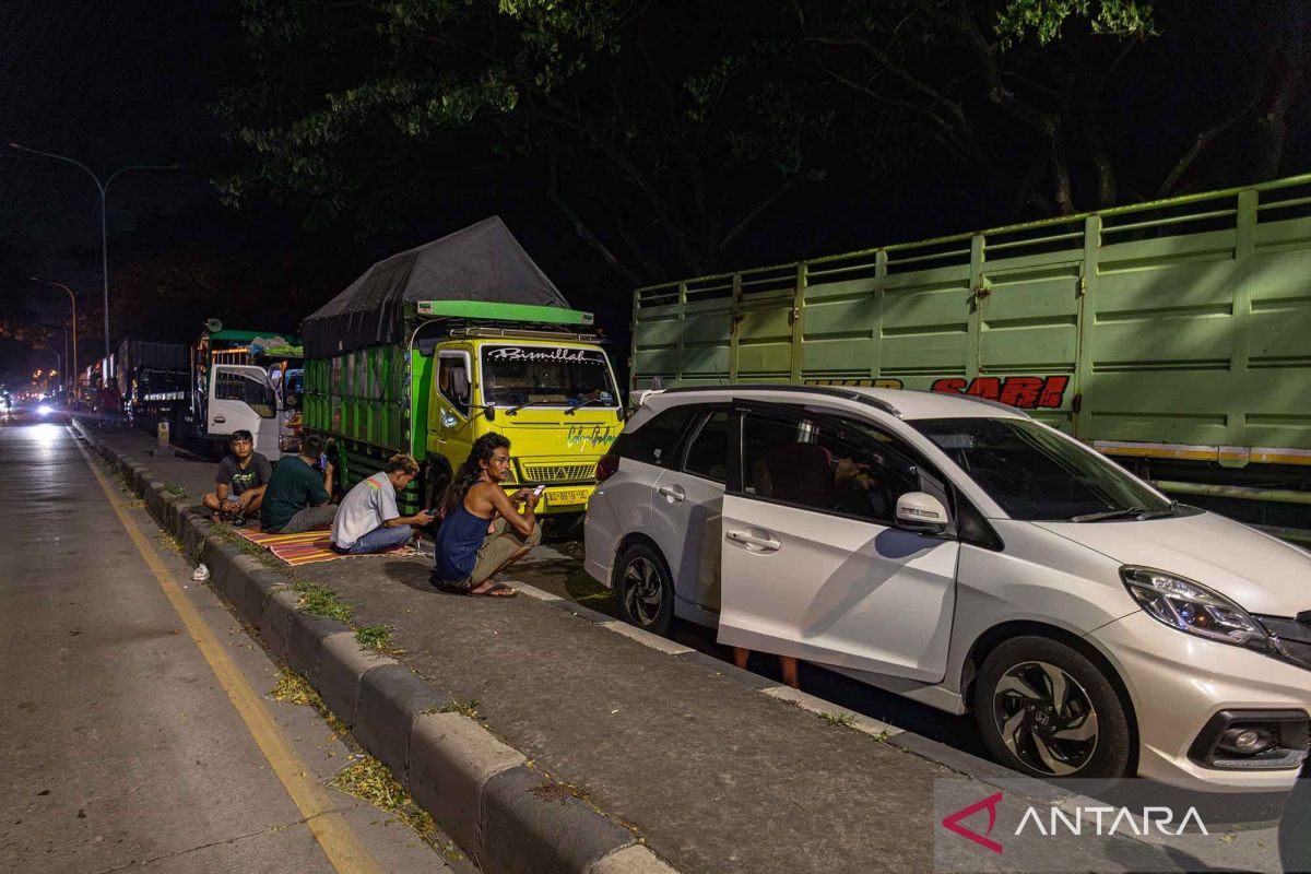
<svg viewBox="0 0 1311 874">
<path fill-rule="evenodd" d="M 998 761 L 1034 777 L 1122 777 L 1131 735 L 1120 696 L 1070 646 L 1017 637 L 974 681 L 974 719 Z"/>
</svg>

